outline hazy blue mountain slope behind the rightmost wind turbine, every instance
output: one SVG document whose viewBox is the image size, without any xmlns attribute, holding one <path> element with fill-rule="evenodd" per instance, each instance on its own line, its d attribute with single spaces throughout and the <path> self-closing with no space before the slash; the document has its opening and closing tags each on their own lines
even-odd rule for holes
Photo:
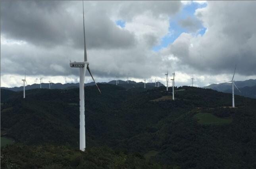
<svg viewBox="0 0 256 169">
<path fill-rule="evenodd" d="M 241 95 L 244 97 L 250 97 L 256 99 L 256 79 L 250 79 L 245 81 L 237 81 L 235 82 L 241 93 L 237 90 L 237 88 L 234 89 L 235 95 Z M 214 89 L 217 91 L 221 91 L 224 93 L 232 93 L 232 83 L 227 84 L 211 84 L 205 87 L 202 87 L 205 89 Z"/>
</svg>

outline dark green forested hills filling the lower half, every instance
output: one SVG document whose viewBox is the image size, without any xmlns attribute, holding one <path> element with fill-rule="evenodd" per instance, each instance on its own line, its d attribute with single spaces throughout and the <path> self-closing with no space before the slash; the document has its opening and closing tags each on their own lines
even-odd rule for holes
<svg viewBox="0 0 256 169">
<path fill-rule="evenodd" d="M 173 101 L 166 87 L 99 87 L 85 87 L 86 152 L 78 88 L 25 99 L 1 89 L 1 135 L 15 140 L 1 148 L 1 167 L 256 168 L 255 99 L 235 95 L 229 108 L 231 94 L 212 89 L 175 87 Z"/>
</svg>

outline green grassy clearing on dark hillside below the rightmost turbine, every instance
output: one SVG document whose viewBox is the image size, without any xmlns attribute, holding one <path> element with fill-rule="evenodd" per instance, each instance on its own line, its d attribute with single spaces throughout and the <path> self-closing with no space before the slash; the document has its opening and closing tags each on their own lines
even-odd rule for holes
<svg viewBox="0 0 256 169">
<path fill-rule="evenodd" d="M 197 122 L 200 124 L 227 124 L 231 123 L 232 119 L 218 118 L 210 113 L 198 113 L 194 115 L 194 118 L 197 119 Z"/>
</svg>

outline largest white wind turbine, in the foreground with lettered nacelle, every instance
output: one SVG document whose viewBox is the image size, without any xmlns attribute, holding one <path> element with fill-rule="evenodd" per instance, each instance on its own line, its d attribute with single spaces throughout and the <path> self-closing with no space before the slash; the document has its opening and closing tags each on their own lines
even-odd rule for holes
<svg viewBox="0 0 256 169">
<path fill-rule="evenodd" d="M 84 2 L 83 2 L 83 28 L 84 28 L 84 62 L 73 62 L 69 63 L 70 67 L 77 67 L 80 70 L 80 81 L 79 81 L 79 104 L 80 104 L 80 150 L 85 151 L 85 70 L 87 68 L 90 76 L 92 74 L 89 68 L 89 62 L 87 61 L 87 53 L 86 53 L 86 44 L 85 44 L 85 16 L 84 16 Z M 92 77 L 96 87 L 100 91 L 98 85 L 96 84 L 94 78 Z M 100 92 L 101 94 L 101 92 Z"/>
</svg>

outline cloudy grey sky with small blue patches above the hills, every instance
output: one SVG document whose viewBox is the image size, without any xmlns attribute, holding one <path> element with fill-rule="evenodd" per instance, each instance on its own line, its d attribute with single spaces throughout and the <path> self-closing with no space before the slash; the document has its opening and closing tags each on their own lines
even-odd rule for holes
<svg viewBox="0 0 256 169">
<path fill-rule="evenodd" d="M 149 78 L 196 86 L 256 79 L 256 1 L 85 1 L 85 36 L 97 82 Z M 79 82 L 82 1 L 1 0 L 1 87 Z M 88 74 L 87 74 L 88 75 Z M 92 79 L 86 76 L 85 82 Z M 37 81 L 39 83 L 39 80 Z M 169 84 L 170 85 L 170 84 Z"/>
</svg>

